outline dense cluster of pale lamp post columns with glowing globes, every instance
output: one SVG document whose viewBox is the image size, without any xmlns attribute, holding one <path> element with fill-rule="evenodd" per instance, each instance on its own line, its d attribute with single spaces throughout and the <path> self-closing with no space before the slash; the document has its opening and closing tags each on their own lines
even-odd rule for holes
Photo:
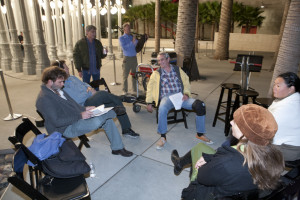
<svg viewBox="0 0 300 200">
<path fill-rule="evenodd" d="M 101 40 L 100 15 L 105 14 L 108 20 L 108 58 L 114 57 L 110 15 L 118 13 L 118 25 L 121 26 L 121 15 L 125 13 L 121 0 L 114 3 L 106 0 L 103 5 L 100 0 L 95 0 L 95 5 L 91 0 L 3 1 L 0 15 L 0 62 L 3 69 L 40 75 L 50 60 L 65 57 L 72 60 L 73 45 L 85 35 L 85 26 L 96 26 L 97 38 Z M 23 52 L 19 32 L 23 32 Z M 120 46 L 118 49 L 121 52 Z"/>
</svg>

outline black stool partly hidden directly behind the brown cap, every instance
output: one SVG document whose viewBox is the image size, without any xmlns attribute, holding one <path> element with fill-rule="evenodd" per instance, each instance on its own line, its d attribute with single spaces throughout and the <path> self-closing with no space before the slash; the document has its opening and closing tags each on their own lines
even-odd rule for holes
<svg viewBox="0 0 300 200">
<path fill-rule="evenodd" d="M 252 103 L 255 103 L 256 97 L 259 95 L 258 92 L 254 90 L 242 90 L 239 89 L 238 91 L 235 92 L 235 101 L 232 107 L 231 115 L 230 115 L 230 120 L 233 119 L 233 113 L 240 107 L 240 97 L 243 98 L 242 104 L 248 104 L 249 98 L 252 98 Z M 225 125 L 227 127 L 225 135 L 227 136 L 229 133 L 230 129 L 230 123 Z"/>
</svg>

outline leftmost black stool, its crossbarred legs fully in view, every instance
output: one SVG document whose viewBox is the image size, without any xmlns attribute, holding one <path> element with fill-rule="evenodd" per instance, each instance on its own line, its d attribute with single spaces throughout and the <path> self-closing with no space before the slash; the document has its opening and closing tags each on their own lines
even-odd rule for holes
<svg viewBox="0 0 300 200">
<path fill-rule="evenodd" d="M 227 101 L 222 101 L 225 89 L 228 90 Z M 217 119 L 225 122 L 225 129 L 224 129 L 225 134 L 226 134 L 226 124 L 229 123 L 230 109 L 232 107 L 231 106 L 232 91 L 238 90 L 238 89 L 240 89 L 240 85 L 238 85 L 238 84 L 234 84 L 234 83 L 221 84 L 221 94 L 219 97 L 219 102 L 218 102 L 216 114 L 215 114 L 214 121 L 213 121 L 213 127 L 215 127 Z M 226 104 L 226 106 L 223 104 Z M 219 113 L 220 107 L 224 108 L 225 112 Z M 224 114 L 225 114 L 225 119 L 220 117 L 221 115 L 224 115 Z"/>
</svg>

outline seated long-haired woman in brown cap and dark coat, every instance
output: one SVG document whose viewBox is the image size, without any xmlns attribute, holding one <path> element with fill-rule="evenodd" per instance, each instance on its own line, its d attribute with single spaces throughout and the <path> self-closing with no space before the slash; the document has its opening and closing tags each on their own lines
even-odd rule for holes
<svg viewBox="0 0 300 200">
<path fill-rule="evenodd" d="M 183 157 L 173 150 L 174 173 L 192 165 L 191 183 L 182 199 L 210 199 L 241 192 L 276 188 L 284 170 L 281 152 L 272 144 L 277 131 L 273 115 L 255 104 L 243 105 L 233 115 L 232 134 L 236 146 L 216 151 L 199 143 Z"/>
</svg>

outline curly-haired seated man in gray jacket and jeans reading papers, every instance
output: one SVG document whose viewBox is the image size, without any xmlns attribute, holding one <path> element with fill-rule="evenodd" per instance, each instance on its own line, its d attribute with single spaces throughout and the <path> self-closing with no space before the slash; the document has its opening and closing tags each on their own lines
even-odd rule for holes
<svg viewBox="0 0 300 200">
<path fill-rule="evenodd" d="M 103 128 L 110 141 L 112 154 L 132 156 L 132 152 L 124 148 L 113 121 L 116 113 L 111 110 L 103 115 L 93 116 L 91 110 L 95 106 L 83 107 L 62 90 L 66 78 L 67 73 L 59 67 L 48 67 L 43 71 L 43 84 L 36 100 L 36 108 L 45 118 L 47 132 L 51 134 L 57 131 L 64 137 L 73 138 Z"/>
</svg>

